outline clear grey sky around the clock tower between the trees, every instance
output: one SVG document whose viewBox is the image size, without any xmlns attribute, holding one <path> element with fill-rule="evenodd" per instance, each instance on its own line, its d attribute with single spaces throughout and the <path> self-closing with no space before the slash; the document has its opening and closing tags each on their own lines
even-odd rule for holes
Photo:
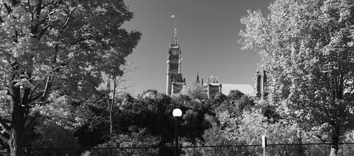
<svg viewBox="0 0 354 156">
<path fill-rule="evenodd" d="M 252 50 L 241 50 L 238 33 L 247 10 L 269 13 L 274 0 L 124 0 L 134 19 L 125 22 L 128 31 L 143 36 L 134 50 L 142 65 L 133 74 L 131 92 L 155 89 L 166 93 L 167 52 L 175 16 L 182 53 L 182 75 L 195 82 L 197 72 L 204 82 L 218 75 L 220 83 L 251 84 L 259 58 Z M 266 13 L 266 14 L 265 14 Z"/>
</svg>

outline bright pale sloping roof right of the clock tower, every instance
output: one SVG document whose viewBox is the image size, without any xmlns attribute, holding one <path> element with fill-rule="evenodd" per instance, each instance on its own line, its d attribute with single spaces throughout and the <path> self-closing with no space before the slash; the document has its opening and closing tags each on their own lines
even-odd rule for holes
<svg viewBox="0 0 354 156">
<path fill-rule="evenodd" d="M 230 90 L 238 90 L 243 94 L 255 97 L 256 90 L 250 84 L 224 84 L 222 83 L 221 92 L 225 95 L 229 95 Z"/>
</svg>

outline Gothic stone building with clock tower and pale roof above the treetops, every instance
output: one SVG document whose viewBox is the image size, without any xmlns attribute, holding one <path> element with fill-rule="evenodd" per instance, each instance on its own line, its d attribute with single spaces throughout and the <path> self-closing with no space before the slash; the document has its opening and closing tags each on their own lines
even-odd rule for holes
<svg viewBox="0 0 354 156">
<path fill-rule="evenodd" d="M 186 79 L 182 77 L 181 72 L 181 47 L 177 39 L 177 25 L 173 26 L 173 33 L 171 43 L 169 44 L 167 53 L 167 83 L 166 83 L 166 95 L 178 94 L 186 86 Z M 205 94 L 217 94 L 222 93 L 229 95 L 231 90 L 238 90 L 250 97 L 265 98 L 267 93 L 264 92 L 264 84 L 267 76 L 265 72 L 260 72 L 257 69 L 255 78 L 255 88 L 250 84 L 224 84 L 220 83 L 218 76 L 211 75 L 207 83 L 203 82 L 203 79 L 199 81 L 199 72 L 197 73 L 196 84 L 205 87 Z"/>
</svg>

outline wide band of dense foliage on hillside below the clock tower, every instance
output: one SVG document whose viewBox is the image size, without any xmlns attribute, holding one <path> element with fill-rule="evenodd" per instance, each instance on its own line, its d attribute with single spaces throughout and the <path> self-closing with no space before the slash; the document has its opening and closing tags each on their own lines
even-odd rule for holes
<svg viewBox="0 0 354 156">
<path fill-rule="evenodd" d="M 267 135 L 270 143 L 297 141 L 293 123 L 278 118 L 273 107 L 258 105 L 239 91 L 199 99 L 185 94 L 169 97 L 156 90 L 117 98 L 112 139 L 104 92 L 84 103 L 94 115 L 75 130 L 83 147 L 173 146 L 175 108 L 183 112 L 179 133 L 183 146 L 259 144 L 262 135 Z"/>
</svg>

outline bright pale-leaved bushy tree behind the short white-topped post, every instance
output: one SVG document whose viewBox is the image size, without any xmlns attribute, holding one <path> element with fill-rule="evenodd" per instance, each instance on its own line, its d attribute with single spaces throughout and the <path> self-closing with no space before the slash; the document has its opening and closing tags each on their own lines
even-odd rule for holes
<svg viewBox="0 0 354 156">
<path fill-rule="evenodd" d="M 245 145 L 259 144 L 263 135 L 268 137 L 269 144 L 292 144 L 296 141 L 294 125 L 285 120 L 269 122 L 260 109 L 245 111 L 240 119 L 231 118 L 226 132 L 231 139 Z"/>
</svg>

